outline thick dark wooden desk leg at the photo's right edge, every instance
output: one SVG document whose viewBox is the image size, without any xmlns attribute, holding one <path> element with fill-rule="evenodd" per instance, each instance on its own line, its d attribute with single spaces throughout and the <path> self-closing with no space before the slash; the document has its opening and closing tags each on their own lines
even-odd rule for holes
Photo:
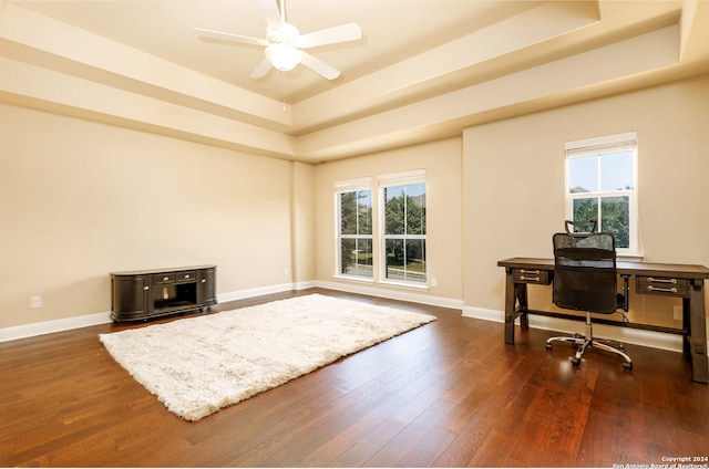
<svg viewBox="0 0 709 469">
<path fill-rule="evenodd" d="M 705 311 L 703 279 L 692 280 L 689 293 L 689 357 L 691 377 L 699 383 L 709 383 L 707 362 L 707 316 Z M 685 305 L 685 311 L 687 311 Z"/>
</svg>

